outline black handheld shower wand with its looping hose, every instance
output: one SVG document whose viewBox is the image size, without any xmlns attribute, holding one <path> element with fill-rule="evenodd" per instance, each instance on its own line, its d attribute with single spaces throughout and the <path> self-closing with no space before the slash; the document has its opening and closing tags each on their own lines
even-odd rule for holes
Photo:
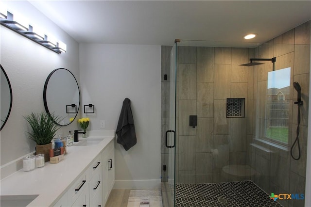
<svg viewBox="0 0 311 207">
<path fill-rule="evenodd" d="M 297 130 L 296 130 L 296 139 L 291 147 L 291 156 L 293 159 L 295 160 L 298 160 L 300 159 L 300 143 L 299 143 L 299 127 L 300 127 L 300 106 L 303 104 L 303 102 L 301 101 L 301 87 L 299 85 L 298 82 L 294 82 L 293 83 L 294 85 L 294 89 L 297 91 L 297 101 L 294 102 L 294 104 L 297 104 L 298 105 L 298 117 L 297 117 Z M 294 158 L 294 155 L 293 155 L 293 149 L 294 149 L 294 145 L 295 144 L 298 144 L 298 158 Z"/>
</svg>

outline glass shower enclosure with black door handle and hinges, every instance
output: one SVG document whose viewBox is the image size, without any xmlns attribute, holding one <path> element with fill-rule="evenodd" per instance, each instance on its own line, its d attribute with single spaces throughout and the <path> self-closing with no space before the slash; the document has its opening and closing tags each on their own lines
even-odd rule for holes
<svg viewBox="0 0 311 207">
<path fill-rule="evenodd" d="M 279 189 L 290 193 L 294 188 L 294 181 L 278 178 L 289 179 L 295 172 L 291 165 L 305 166 L 305 160 L 290 158 L 289 149 L 297 127 L 293 82 L 299 80 L 307 90 L 308 81 L 294 75 L 294 55 L 279 56 L 276 63 L 241 66 L 250 58 L 272 58 L 273 44 L 236 48 L 175 40 L 167 80 L 169 158 L 164 207 L 175 206 L 179 184 L 251 180 L 267 193 Z M 282 77 L 280 86 L 277 77 Z M 306 134 L 300 136 L 306 140 Z"/>
</svg>

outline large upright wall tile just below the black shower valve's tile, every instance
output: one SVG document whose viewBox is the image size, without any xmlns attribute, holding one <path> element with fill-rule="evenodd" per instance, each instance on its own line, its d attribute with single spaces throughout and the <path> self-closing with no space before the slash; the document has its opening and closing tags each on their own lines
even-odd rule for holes
<svg viewBox="0 0 311 207">
<path fill-rule="evenodd" d="M 179 136 L 179 170 L 195 170 L 195 136 Z"/>
</svg>

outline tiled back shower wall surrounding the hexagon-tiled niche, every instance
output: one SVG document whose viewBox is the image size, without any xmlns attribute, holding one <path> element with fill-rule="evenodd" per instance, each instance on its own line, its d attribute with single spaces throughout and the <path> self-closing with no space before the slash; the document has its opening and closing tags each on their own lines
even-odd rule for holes
<svg viewBox="0 0 311 207">
<path fill-rule="evenodd" d="M 172 47 L 162 46 L 162 162 L 167 164 L 165 131 L 169 117 L 169 70 Z M 179 47 L 176 106 L 176 181 L 209 183 L 235 181 L 227 165 L 246 164 L 248 87 L 253 70 L 239 66 L 254 56 L 249 48 Z M 249 72 L 251 71 L 251 72 Z M 164 80 L 164 74 L 168 80 Z M 248 84 L 250 82 L 250 84 Z M 245 98 L 245 117 L 227 118 L 226 99 Z M 189 116 L 197 115 L 197 127 Z M 169 167 L 169 166 L 168 166 Z M 167 175 L 162 171 L 163 181 Z M 250 177 L 248 177 L 250 179 Z"/>
</svg>

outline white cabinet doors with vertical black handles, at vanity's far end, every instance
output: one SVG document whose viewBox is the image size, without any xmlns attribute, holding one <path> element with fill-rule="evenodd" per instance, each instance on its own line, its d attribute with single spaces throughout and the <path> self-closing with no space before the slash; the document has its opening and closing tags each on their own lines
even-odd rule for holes
<svg viewBox="0 0 311 207">
<path fill-rule="evenodd" d="M 105 204 L 115 182 L 114 142 L 108 144 L 108 146 L 104 149 L 102 153 L 102 157 L 103 157 L 103 204 Z"/>
</svg>

